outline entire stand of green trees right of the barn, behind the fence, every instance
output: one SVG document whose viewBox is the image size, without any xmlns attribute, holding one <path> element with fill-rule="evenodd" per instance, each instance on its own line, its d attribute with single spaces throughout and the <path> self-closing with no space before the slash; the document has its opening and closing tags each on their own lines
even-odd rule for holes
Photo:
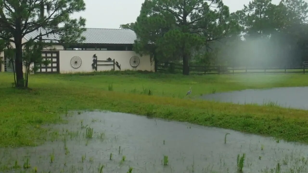
<svg viewBox="0 0 308 173">
<path fill-rule="evenodd" d="M 230 14 L 221 0 L 145 0 L 135 23 L 134 50 L 160 62 L 288 65 L 308 55 L 304 0 L 251 0 Z M 308 60 L 308 59 L 307 59 Z M 200 64 L 200 65 L 201 65 Z"/>
</svg>

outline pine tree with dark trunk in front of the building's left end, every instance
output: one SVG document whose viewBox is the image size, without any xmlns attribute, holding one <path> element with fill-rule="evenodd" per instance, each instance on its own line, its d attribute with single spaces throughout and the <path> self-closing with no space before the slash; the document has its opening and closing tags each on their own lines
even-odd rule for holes
<svg viewBox="0 0 308 173">
<path fill-rule="evenodd" d="M 34 42 L 46 45 L 46 42 L 84 40 L 81 34 L 85 30 L 85 19 L 70 18 L 71 14 L 83 10 L 83 0 L 0 0 L 0 38 L 15 45 L 17 87 L 25 86 L 23 46 Z M 37 30 L 40 34 L 22 42 L 22 38 Z M 53 34 L 59 35 L 59 38 L 48 37 Z"/>
</svg>

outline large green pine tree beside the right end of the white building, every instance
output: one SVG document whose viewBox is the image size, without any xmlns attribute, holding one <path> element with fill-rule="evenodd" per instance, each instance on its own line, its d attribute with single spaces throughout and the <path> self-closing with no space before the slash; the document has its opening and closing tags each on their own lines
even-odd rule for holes
<svg viewBox="0 0 308 173">
<path fill-rule="evenodd" d="M 146 0 L 135 24 L 134 50 L 159 54 L 155 58 L 164 62 L 182 57 L 183 74 L 189 74 L 193 50 L 239 30 L 221 0 Z"/>
</svg>

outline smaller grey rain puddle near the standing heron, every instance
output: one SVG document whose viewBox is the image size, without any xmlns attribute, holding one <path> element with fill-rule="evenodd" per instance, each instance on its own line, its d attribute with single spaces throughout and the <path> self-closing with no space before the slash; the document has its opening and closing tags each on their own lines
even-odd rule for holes
<svg viewBox="0 0 308 173">
<path fill-rule="evenodd" d="M 201 99 L 238 104 L 272 104 L 296 109 L 308 109 L 308 87 L 231 91 L 203 95 Z"/>
</svg>

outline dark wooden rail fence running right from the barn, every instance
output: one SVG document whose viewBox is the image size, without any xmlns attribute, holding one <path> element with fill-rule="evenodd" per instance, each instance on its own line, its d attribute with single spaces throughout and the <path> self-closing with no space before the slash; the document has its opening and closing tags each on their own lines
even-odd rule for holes
<svg viewBox="0 0 308 173">
<path fill-rule="evenodd" d="M 157 71 L 168 73 L 181 73 L 182 64 L 161 63 L 157 65 Z M 236 66 L 189 66 L 190 73 L 197 74 L 238 74 L 238 73 L 306 73 L 308 62 L 298 66 L 284 66 L 282 68 L 253 68 Z"/>
</svg>

